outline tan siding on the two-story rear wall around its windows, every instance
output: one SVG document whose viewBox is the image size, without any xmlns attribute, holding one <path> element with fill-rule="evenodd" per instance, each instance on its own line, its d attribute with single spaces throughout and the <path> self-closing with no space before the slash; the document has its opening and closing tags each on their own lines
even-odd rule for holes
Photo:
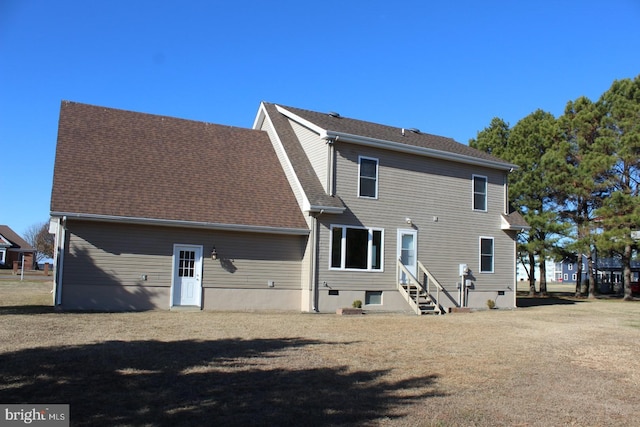
<svg viewBox="0 0 640 427">
<path fill-rule="evenodd" d="M 501 226 L 504 173 L 445 160 L 336 143 L 336 194 L 349 207 L 340 216 L 322 217 L 320 283 L 343 289 L 395 288 L 397 230 L 418 230 L 418 259 L 452 294 L 458 265 L 472 270 L 475 289 L 506 289 L 515 284 L 514 242 Z M 379 159 L 378 199 L 357 197 L 358 156 Z M 487 212 L 472 209 L 472 176 L 488 179 Z M 405 218 L 411 218 L 413 227 Z M 384 229 L 384 272 L 329 269 L 331 224 Z M 494 273 L 479 273 L 479 237 L 494 238 Z"/>
</svg>

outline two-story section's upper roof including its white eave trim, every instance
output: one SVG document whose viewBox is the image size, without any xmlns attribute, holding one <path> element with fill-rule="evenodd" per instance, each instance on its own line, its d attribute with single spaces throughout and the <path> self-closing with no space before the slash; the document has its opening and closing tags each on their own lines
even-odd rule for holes
<svg viewBox="0 0 640 427">
<path fill-rule="evenodd" d="M 387 148 L 392 146 L 396 149 L 402 148 L 402 146 L 416 147 L 423 149 L 425 155 L 441 156 L 454 161 L 483 164 L 505 170 L 517 167 L 483 151 L 456 142 L 452 138 L 431 135 L 417 129 L 387 126 L 350 119 L 335 113 L 318 113 L 294 107 L 279 106 L 279 110 L 293 113 L 304 121 L 315 125 L 317 129 L 327 131 L 329 137 L 335 134 L 340 135 L 341 138 L 356 136 L 361 137 L 360 139 L 395 143 L 389 144 Z"/>
</svg>

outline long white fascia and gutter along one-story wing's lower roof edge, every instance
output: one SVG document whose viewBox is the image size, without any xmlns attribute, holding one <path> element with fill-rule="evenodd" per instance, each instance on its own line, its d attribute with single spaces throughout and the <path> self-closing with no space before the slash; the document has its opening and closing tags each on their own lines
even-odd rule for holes
<svg viewBox="0 0 640 427">
<path fill-rule="evenodd" d="M 79 212 L 51 212 L 53 217 L 67 217 L 82 221 L 113 222 L 124 224 L 157 225 L 164 227 L 202 228 L 207 230 L 240 231 L 246 233 L 264 234 L 289 234 L 306 236 L 309 230 L 306 228 L 269 227 L 260 225 L 224 224 L 216 222 L 182 221 L 159 218 L 140 218 L 116 215 L 99 215 Z"/>
</svg>

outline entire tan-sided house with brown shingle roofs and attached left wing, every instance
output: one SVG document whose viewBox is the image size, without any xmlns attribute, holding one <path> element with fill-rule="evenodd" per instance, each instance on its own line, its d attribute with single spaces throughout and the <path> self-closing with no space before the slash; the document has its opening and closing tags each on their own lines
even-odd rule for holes
<svg viewBox="0 0 640 427">
<path fill-rule="evenodd" d="M 262 103 L 253 129 L 63 102 L 55 304 L 332 312 L 515 306 L 515 166 Z"/>
</svg>

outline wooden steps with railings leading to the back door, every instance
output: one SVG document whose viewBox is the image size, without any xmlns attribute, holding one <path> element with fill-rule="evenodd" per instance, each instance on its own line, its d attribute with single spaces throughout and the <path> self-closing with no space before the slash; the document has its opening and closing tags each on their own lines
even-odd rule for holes
<svg viewBox="0 0 640 427">
<path fill-rule="evenodd" d="M 443 314 L 444 310 L 438 303 L 438 299 L 440 291 L 444 289 L 420 261 L 418 261 L 418 268 L 424 274 L 426 284 L 421 283 L 398 259 L 398 291 L 418 316 Z M 404 280 L 402 280 L 403 274 L 401 273 L 404 273 Z M 436 288 L 437 296 L 430 292 L 431 284 Z"/>
</svg>

